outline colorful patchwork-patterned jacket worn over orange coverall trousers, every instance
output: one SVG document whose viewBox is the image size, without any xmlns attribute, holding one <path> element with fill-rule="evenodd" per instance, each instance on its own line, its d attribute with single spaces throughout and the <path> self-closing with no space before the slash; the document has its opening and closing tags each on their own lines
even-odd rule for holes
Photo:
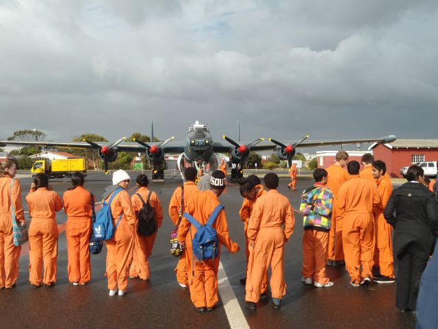
<svg viewBox="0 0 438 329">
<path fill-rule="evenodd" d="M 333 193 L 324 184 L 316 183 L 301 195 L 300 212 L 304 215 L 304 229 L 329 232 Z"/>
</svg>

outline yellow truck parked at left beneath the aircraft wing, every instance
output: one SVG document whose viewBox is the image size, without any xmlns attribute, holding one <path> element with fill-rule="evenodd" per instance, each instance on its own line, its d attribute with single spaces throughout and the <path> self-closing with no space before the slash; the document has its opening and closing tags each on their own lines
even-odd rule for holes
<svg viewBox="0 0 438 329">
<path fill-rule="evenodd" d="M 31 175 L 47 173 L 50 178 L 71 177 L 75 172 L 87 175 L 85 159 L 36 160 L 31 168 Z"/>
</svg>

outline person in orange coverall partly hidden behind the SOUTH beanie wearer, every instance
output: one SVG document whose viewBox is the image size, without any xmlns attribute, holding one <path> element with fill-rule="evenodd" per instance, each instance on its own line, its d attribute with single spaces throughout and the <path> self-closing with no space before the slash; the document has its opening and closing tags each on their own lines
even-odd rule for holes
<svg viewBox="0 0 438 329">
<path fill-rule="evenodd" d="M 190 201 L 193 193 L 198 191 L 196 186 L 196 169 L 193 167 L 188 167 L 184 171 L 185 183 L 184 191 L 182 192 L 181 186 L 175 188 L 175 192 L 172 195 L 169 203 L 169 217 L 172 219 L 175 226 L 179 226 L 179 219 L 182 219 L 182 215 L 185 211 L 185 205 Z M 181 193 L 183 193 L 183 202 L 181 203 Z M 180 213 L 181 211 L 181 213 Z M 183 249 L 181 256 L 179 256 L 179 261 L 177 268 L 175 268 L 175 273 L 177 273 L 177 281 L 179 285 L 183 288 L 187 287 L 189 284 L 188 279 L 188 268 L 187 268 L 187 249 Z"/>
</svg>

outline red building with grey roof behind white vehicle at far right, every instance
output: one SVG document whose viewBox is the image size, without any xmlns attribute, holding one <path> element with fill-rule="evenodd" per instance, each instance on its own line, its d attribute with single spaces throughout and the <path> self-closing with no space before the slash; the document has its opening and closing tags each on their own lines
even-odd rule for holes
<svg viewBox="0 0 438 329">
<path fill-rule="evenodd" d="M 438 160 L 438 139 L 397 139 L 392 143 L 369 147 L 376 160 L 386 163 L 389 177 L 402 178 L 400 168 L 415 162 Z"/>
</svg>

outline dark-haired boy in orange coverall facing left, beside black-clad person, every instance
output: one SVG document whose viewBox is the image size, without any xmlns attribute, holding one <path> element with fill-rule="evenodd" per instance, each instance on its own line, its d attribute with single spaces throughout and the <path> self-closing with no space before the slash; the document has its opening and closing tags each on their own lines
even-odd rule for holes
<svg viewBox="0 0 438 329">
<path fill-rule="evenodd" d="M 377 192 L 381 197 L 382 207 L 374 208 L 374 232 L 376 248 L 374 249 L 374 266 L 380 269 L 380 276 L 374 278 L 377 283 L 393 283 L 394 256 L 392 254 L 392 226 L 383 217 L 389 197 L 392 193 L 392 184 L 386 173 L 386 164 L 381 160 L 372 162 L 372 174 L 376 180 Z"/>
</svg>

